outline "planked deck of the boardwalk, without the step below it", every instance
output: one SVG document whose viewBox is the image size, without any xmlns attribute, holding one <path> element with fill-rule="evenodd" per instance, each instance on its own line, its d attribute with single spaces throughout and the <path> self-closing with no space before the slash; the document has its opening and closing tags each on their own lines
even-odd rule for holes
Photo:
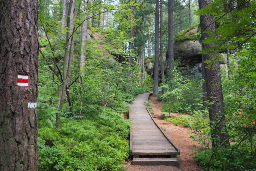
<svg viewBox="0 0 256 171">
<path fill-rule="evenodd" d="M 163 134 L 153 117 L 146 109 L 144 102 L 149 93 L 139 94 L 129 109 L 130 151 L 136 155 L 176 155 L 180 152 Z M 151 162 L 151 161 L 150 161 Z"/>
</svg>

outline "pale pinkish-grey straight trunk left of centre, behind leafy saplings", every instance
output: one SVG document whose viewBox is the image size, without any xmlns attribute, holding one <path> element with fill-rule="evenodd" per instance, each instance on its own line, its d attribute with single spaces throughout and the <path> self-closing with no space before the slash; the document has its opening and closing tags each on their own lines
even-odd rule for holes
<svg viewBox="0 0 256 171">
<path fill-rule="evenodd" d="M 84 1 L 84 6 L 87 9 L 88 8 L 88 0 Z M 80 73 L 82 76 L 85 76 L 85 61 L 86 61 L 86 43 L 87 43 L 87 27 L 88 27 L 88 15 L 86 14 L 86 11 L 84 11 L 85 14 L 85 21 L 83 22 L 83 34 L 82 34 L 82 46 L 81 46 L 81 58 L 80 58 Z"/>
</svg>

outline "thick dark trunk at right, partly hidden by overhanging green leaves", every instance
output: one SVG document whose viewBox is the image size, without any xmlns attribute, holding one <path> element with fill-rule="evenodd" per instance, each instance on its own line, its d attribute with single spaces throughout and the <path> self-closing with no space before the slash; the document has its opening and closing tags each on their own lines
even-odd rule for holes
<svg viewBox="0 0 256 171">
<path fill-rule="evenodd" d="M 199 9 L 205 8 L 211 0 L 199 0 Z M 213 23 L 213 24 L 212 24 Z M 212 15 L 202 15 L 200 16 L 200 27 L 201 30 L 215 32 L 214 17 Z M 206 40 L 210 35 L 203 32 L 202 41 Z M 202 50 L 204 48 L 212 48 L 213 44 L 202 43 Z M 212 60 L 212 58 L 217 55 L 202 54 L 202 59 Z M 205 80 L 206 80 L 206 91 L 207 99 L 210 102 L 208 105 L 209 110 L 209 120 L 211 126 L 211 138 L 212 146 L 216 147 L 218 145 L 228 146 L 228 134 L 225 128 L 225 115 L 224 115 L 224 103 L 223 94 L 220 78 L 220 67 L 219 62 L 213 63 L 212 68 L 207 68 L 205 64 Z"/>
</svg>

